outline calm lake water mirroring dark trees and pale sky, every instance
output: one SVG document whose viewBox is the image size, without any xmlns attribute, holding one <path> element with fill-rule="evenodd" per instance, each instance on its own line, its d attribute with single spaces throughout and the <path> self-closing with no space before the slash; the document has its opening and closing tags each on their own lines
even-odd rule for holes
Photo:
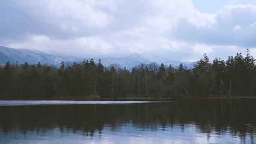
<svg viewBox="0 0 256 144">
<path fill-rule="evenodd" d="M 0 144 L 253 144 L 256 99 L 0 101 Z"/>
</svg>

